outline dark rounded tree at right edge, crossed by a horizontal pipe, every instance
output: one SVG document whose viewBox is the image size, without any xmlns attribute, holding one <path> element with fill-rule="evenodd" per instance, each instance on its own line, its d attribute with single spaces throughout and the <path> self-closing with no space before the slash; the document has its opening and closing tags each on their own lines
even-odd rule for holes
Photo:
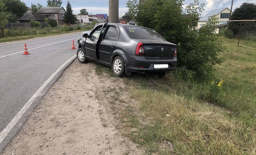
<svg viewBox="0 0 256 155">
<path fill-rule="evenodd" d="M 250 20 L 256 18 L 256 4 L 244 2 L 238 8 L 236 8 L 231 15 L 231 20 Z M 238 34 L 240 29 L 240 22 L 230 22 L 229 30 L 234 34 Z M 243 31 L 255 31 L 256 22 L 242 22 Z"/>
</svg>

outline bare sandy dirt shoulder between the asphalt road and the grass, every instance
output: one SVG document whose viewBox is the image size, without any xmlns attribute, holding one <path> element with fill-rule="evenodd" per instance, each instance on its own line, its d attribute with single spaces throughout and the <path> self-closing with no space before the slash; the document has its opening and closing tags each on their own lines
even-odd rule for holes
<svg viewBox="0 0 256 155">
<path fill-rule="evenodd" d="M 141 154 L 116 128 L 113 97 L 130 100 L 123 87 L 121 78 L 96 75 L 94 62 L 75 60 L 2 154 Z"/>
</svg>

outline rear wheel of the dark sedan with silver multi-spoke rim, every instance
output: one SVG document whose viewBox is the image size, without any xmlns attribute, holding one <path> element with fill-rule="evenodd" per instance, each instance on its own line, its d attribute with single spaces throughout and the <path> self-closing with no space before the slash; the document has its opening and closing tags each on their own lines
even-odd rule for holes
<svg viewBox="0 0 256 155">
<path fill-rule="evenodd" d="M 125 75 L 125 68 L 123 59 L 120 56 L 114 58 L 112 62 L 112 71 L 114 75 L 122 77 Z"/>
</svg>

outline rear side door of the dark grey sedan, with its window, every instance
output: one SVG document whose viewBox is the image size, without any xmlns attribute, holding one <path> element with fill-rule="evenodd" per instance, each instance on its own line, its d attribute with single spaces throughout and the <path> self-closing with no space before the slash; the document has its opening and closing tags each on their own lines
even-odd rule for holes
<svg viewBox="0 0 256 155">
<path fill-rule="evenodd" d="M 107 25 L 103 38 L 99 41 L 98 59 L 101 62 L 110 64 L 110 57 L 116 49 L 119 34 L 117 25 Z"/>
</svg>

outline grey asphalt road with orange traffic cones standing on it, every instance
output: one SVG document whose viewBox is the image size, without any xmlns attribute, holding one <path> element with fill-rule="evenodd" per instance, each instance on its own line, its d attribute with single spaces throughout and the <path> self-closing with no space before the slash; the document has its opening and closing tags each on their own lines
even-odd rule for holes
<svg viewBox="0 0 256 155">
<path fill-rule="evenodd" d="M 77 40 L 81 36 L 82 32 L 79 32 L 0 45 L 0 133 L 46 80 L 76 54 L 76 50 L 71 50 L 72 40 L 75 41 L 75 47 L 78 48 Z M 24 43 L 27 44 L 30 55 L 22 55 Z M 65 67 L 43 89 L 40 97 L 57 80 Z M 0 153 L 22 127 L 26 116 L 37 105 L 39 99 L 37 98 L 24 116 L 19 119 L 2 144 L 0 141 Z"/>
</svg>

